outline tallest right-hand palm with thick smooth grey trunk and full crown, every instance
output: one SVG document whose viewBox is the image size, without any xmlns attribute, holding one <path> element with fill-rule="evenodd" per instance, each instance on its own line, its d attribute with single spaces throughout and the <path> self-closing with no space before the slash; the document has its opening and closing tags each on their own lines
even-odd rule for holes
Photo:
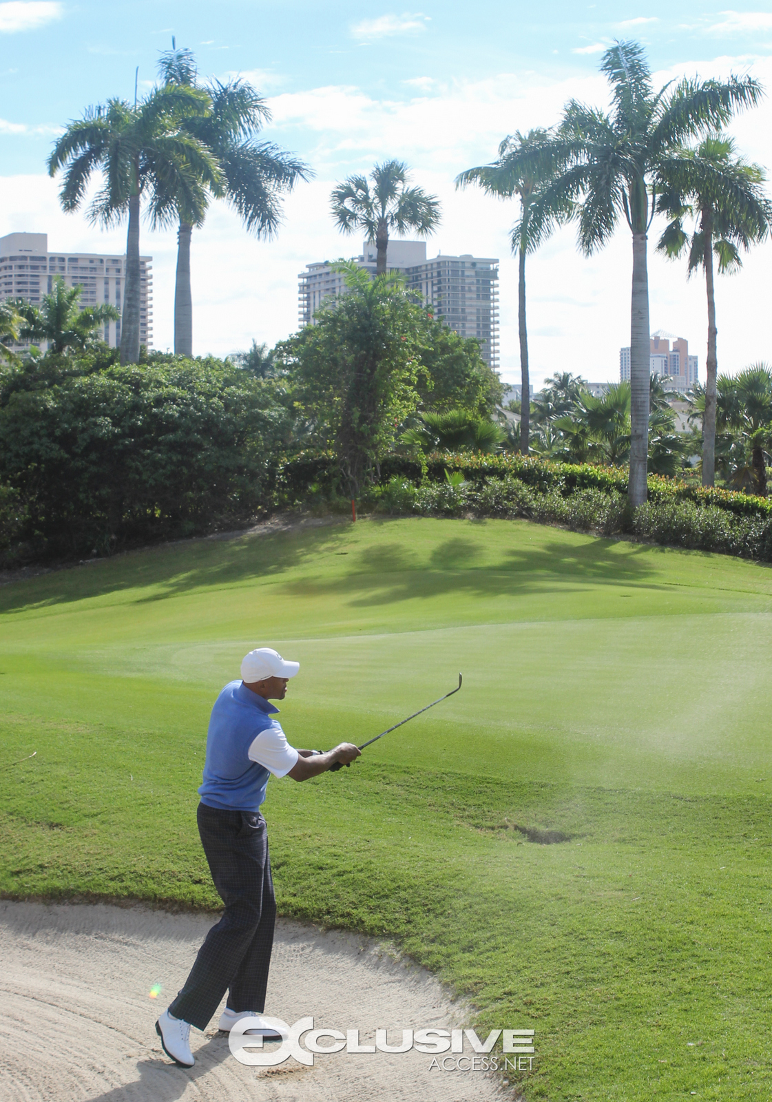
<svg viewBox="0 0 772 1102">
<path fill-rule="evenodd" d="M 604 54 L 611 85 L 610 115 L 570 100 L 555 136 L 566 164 L 535 197 L 531 216 L 576 203 L 579 248 L 589 256 L 611 238 L 620 218 L 632 235 L 630 320 L 631 447 L 628 497 L 646 499 L 649 426 L 649 274 L 646 234 L 655 197 L 666 187 L 664 162 L 684 142 L 722 127 L 733 111 L 755 105 L 761 87 L 751 77 L 683 79 L 654 91 L 642 47 L 618 42 Z"/>
</svg>

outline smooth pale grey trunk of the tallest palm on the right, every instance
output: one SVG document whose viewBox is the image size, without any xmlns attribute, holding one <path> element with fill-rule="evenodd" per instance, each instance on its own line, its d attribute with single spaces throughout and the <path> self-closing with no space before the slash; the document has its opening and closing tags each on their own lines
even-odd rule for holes
<svg viewBox="0 0 772 1102">
<path fill-rule="evenodd" d="M 628 500 L 633 508 L 646 499 L 649 458 L 649 272 L 646 235 L 632 235 L 632 303 L 630 311 L 630 477 Z"/>
</svg>

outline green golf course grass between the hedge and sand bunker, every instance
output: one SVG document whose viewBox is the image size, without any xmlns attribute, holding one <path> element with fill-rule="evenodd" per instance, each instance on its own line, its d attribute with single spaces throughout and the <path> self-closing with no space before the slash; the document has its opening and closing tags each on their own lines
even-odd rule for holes
<svg viewBox="0 0 772 1102">
<path fill-rule="evenodd" d="M 482 1027 L 535 1028 L 529 1099 L 769 1098 L 770 569 L 360 521 L 48 574 L 0 616 L 7 895 L 217 903 L 195 789 L 250 646 L 300 659 L 282 721 L 305 746 L 460 669 L 352 769 L 271 781 L 281 910 L 393 938 Z"/>
</svg>

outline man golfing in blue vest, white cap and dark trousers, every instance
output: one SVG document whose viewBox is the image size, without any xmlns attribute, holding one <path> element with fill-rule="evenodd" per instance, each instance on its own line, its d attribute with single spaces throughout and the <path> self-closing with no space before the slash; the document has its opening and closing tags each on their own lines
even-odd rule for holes
<svg viewBox="0 0 772 1102">
<path fill-rule="evenodd" d="M 298 669 L 270 647 L 250 650 L 241 680 L 229 682 L 211 710 L 198 833 L 225 914 L 207 933 L 185 986 L 155 1023 L 164 1052 L 185 1068 L 195 1063 L 191 1026 L 205 1029 L 226 991 L 220 1029 L 230 1030 L 239 1018 L 259 1018 L 265 1009 L 276 903 L 260 804 L 270 775 L 306 780 L 360 754 L 351 743 L 326 754 L 287 744 L 273 719 L 279 709 L 269 702 L 284 700 Z M 281 1040 L 270 1028 L 249 1033 Z"/>
</svg>

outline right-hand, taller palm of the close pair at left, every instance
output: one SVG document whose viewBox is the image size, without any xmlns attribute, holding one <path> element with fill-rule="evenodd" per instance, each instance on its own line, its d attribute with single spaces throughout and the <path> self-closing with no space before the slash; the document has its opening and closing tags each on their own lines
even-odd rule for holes
<svg viewBox="0 0 772 1102">
<path fill-rule="evenodd" d="M 192 51 L 172 50 L 162 54 L 159 73 L 167 85 L 198 87 L 198 69 Z M 272 142 L 258 142 L 254 136 L 270 122 L 271 111 L 250 84 L 240 78 L 204 86 L 211 101 L 207 115 L 189 116 L 185 130 L 200 141 L 220 165 L 225 197 L 255 237 L 270 239 L 281 222 L 280 195 L 291 192 L 298 180 L 313 173 L 307 164 Z M 174 352 L 193 355 L 193 296 L 191 293 L 191 235 L 200 226 L 206 206 L 187 210 L 173 193 L 164 210 L 178 222 L 177 271 L 174 284 Z"/>
</svg>

